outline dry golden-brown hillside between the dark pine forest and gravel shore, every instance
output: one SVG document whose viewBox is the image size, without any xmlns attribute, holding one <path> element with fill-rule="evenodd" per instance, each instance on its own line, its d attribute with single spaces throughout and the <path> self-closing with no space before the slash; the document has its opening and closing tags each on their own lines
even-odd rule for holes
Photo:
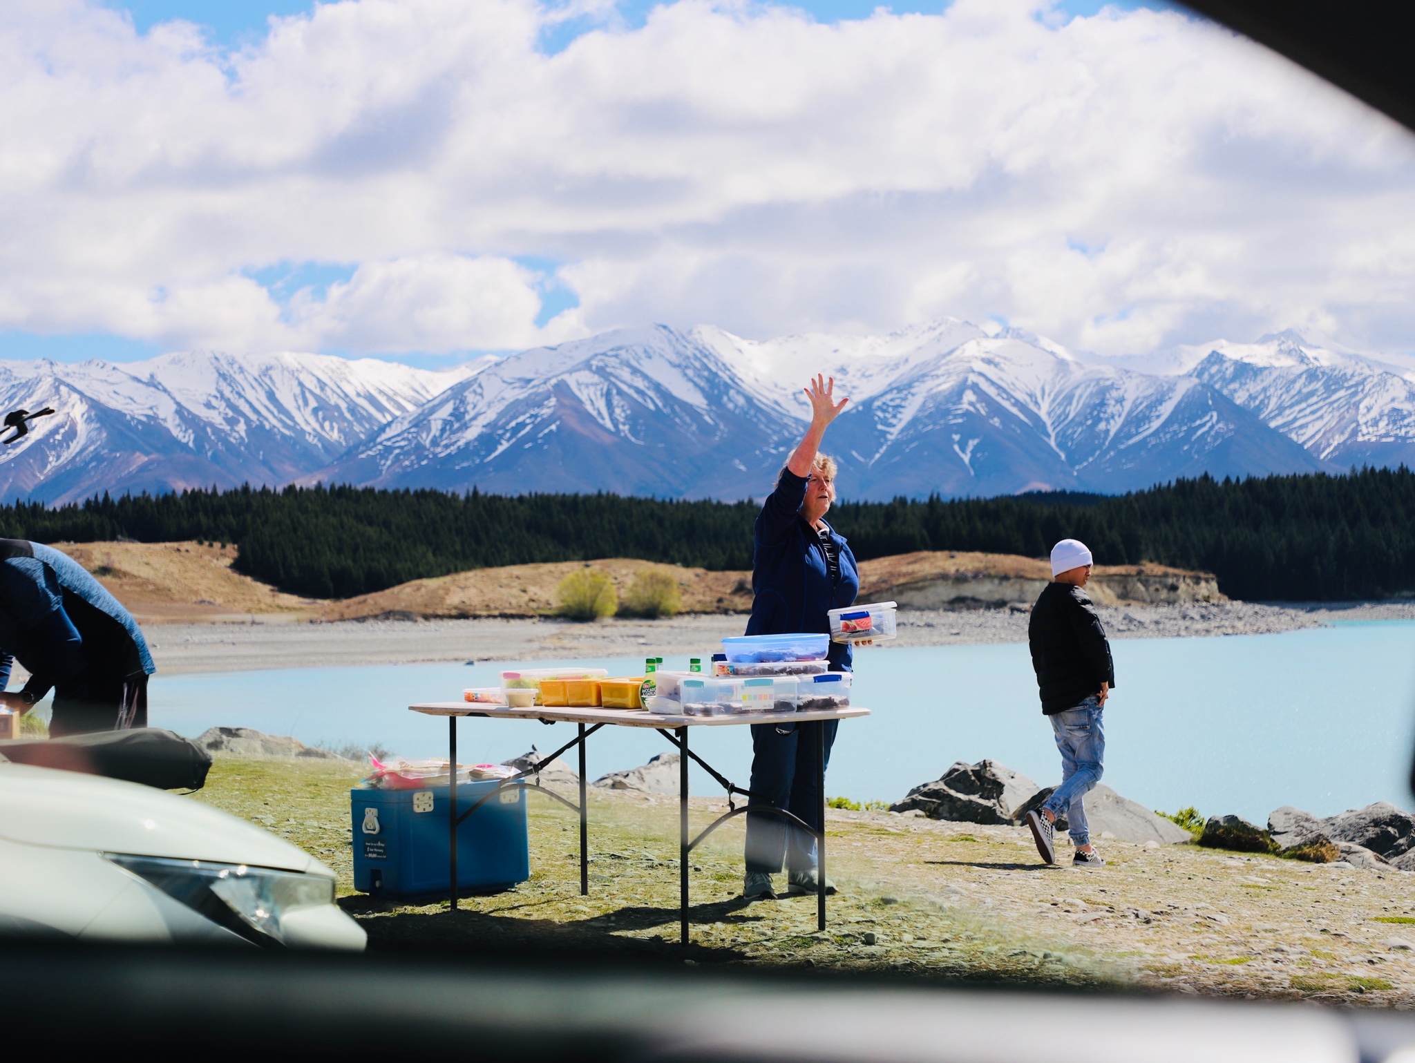
<svg viewBox="0 0 1415 1063">
<path fill-rule="evenodd" d="M 454 619 L 542 616 L 555 610 L 555 590 L 569 572 L 594 568 L 623 593 L 644 569 L 672 572 L 686 613 L 744 613 L 751 609 L 750 572 L 709 572 L 614 558 L 474 569 L 416 579 L 342 602 L 283 594 L 231 569 L 235 546 L 200 542 L 81 542 L 58 549 L 96 575 L 143 623 L 229 623 L 252 614 L 290 620 L 371 617 Z M 860 563 L 860 600 L 897 599 L 907 607 L 974 607 L 1032 602 L 1050 578 L 1047 562 L 1007 553 L 932 551 Z M 1213 576 L 1160 565 L 1098 566 L 1092 596 L 1101 604 L 1166 600 L 1221 600 Z M 937 600 L 935 600 L 937 599 Z"/>
</svg>

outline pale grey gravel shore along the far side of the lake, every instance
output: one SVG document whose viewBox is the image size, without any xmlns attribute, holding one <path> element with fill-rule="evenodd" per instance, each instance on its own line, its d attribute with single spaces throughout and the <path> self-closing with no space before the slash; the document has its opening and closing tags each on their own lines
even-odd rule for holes
<svg viewBox="0 0 1415 1063">
<path fill-rule="evenodd" d="M 1292 631 L 1333 620 L 1415 620 L 1415 603 L 1259 604 L 1251 602 L 1102 609 L 1116 638 L 1235 636 Z M 304 668 L 310 664 L 412 664 L 424 661 L 526 661 L 706 653 L 724 636 L 741 634 L 741 614 L 695 614 L 672 620 L 345 620 L 328 624 L 154 624 L 147 628 L 160 671 L 225 672 Z M 899 645 L 1020 643 L 1027 613 L 911 610 L 899 614 Z"/>
</svg>

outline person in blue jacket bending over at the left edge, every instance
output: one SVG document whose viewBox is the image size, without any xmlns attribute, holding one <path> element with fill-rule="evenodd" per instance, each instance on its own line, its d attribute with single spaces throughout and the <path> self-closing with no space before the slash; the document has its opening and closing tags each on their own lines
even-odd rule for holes
<svg viewBox="0 0 1415 1063">
<path fill-rule="evenodd" d="M 137 621 L 68 555 L 0 539 L 0 689 L 14 661 L 30 681 L 0 703 L 24 713 L 52 689 L 51 737 L 147 726 L 157 668 Z"/>
</svg>

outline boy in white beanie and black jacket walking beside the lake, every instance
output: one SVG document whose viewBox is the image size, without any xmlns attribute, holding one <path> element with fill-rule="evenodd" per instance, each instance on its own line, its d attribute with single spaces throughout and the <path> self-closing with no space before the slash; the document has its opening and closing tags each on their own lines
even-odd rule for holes
<svg viewBox="0 0 1415 1063">
<path fill-rule="evenodd" d="M 1077 868 L 1104 866 L 1091 845 L 1082 798 L 1101 781 L 1105 770 L 1105 699 L 1115 686 L 1111 644 L 1090 594 L 1082 590 L 1091 578 L 1091 551 L 1077 539 L 1061 539 L 1051 548 L 1051 583 L 1027 623 L 1032 667 L 1037 674 L 1041 712 L 1051 719 L 1051 732 L 1061 750 L 1061 786 L 1026 822 L 1037 852 L 1056 863 L 1056 821 L 1070 824 Z"/>
</svg>

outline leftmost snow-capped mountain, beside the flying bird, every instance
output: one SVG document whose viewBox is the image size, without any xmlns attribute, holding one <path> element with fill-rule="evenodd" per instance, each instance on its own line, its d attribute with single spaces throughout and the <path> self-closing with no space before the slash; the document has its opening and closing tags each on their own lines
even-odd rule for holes
<svg viewBox="0 0 1415 1063">
<path fill-rule="evenodd" d="M 0 497 L 58 504 L 102 491 L 286 484 L 481 368 L 209 352 L 126 365 L 0 362 L 6 410 L 57 410 L 0 452 Z"/>
</svg>

